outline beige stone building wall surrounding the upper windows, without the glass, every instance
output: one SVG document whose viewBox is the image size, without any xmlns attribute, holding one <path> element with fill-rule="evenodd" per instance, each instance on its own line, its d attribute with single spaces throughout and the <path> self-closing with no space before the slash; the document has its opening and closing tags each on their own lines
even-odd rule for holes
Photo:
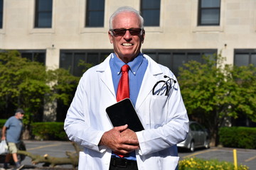
<svg viewBox="0 0 256 170">
<path fill-rule="evenodd" d="M 4 0 L 0 48 L 46 50 L 46 65 L 59 67 L 60 49 L 112 49 L 108 18 L 119 6 L 139 1 L 105 1 L 104 28 L 85 28 L 86 0 L 53 0 L 52 28 L 33 28 L 33 0 Z M 233 64 L 234 49 L 256 48 L 256 1 L 222 0 L 220 26 L 197 26 L 198 0 L 161 0 L 159 27 L 146 27 L 146 49 L 218 49 Z"/>
</svg>

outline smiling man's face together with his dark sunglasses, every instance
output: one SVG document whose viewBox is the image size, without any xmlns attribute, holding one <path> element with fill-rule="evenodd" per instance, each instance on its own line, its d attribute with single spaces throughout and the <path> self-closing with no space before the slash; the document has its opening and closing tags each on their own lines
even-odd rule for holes
<svg viewBox="0 0 256 170">
<path fill-rule="evenodd" d="M 142 18 L 137 13 L 114 13 L 110 18 L 109 37 L 115 55 L 125 63 L 131 62 L 139 55 L 145 37 Z"/>
</svg>

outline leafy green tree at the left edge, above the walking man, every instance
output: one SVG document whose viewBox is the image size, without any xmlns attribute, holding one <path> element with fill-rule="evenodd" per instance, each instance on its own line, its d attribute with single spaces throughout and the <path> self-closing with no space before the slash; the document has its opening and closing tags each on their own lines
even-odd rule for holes
<svg viewBox="0 0 256 170">
<path fill-rule="evenodd" d="M 43 107 L 46 84 L 46 67 L 29 62 L 15 50 L 0 53 L 0 101 L 12 103 L 33 114 Z"/>
</svg>

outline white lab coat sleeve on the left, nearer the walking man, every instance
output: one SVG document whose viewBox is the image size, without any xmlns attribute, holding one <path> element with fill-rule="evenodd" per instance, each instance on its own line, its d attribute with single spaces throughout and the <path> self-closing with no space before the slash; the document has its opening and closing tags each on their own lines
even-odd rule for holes
<svg viewBox="0 0 256 170">
<path fill-rule="evenodd" d="M 65 118 L 64 129 L 71 141 L 77 142 L 82 147 L 87 147 L 97 152 L 104 152 L 105 148 L 98 146 L 104 132 L 90 126 L 90 113 L 88 109 L 90 84 L 87 83 L 90 81 L 88 81 L 88 77 L 86 79 L 85 77 L 86 74 L 80 79 L 77 91 Z"/>
</svg>

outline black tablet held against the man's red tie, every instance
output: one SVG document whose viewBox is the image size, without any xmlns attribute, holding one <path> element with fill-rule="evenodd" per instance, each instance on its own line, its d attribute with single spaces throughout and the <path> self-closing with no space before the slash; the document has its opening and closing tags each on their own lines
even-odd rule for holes
<svg viewBox="0 0 256 170">
<path fill-rule="evenodd" d="M 127 124 L 128 128 L 134 132 L 144 130 L 134 106 L 132 105 L 132 101 L 129 98 L 124 98 L 124 100 L 107 107 L 106 112 L 113 127 Z"/>
</svg>

